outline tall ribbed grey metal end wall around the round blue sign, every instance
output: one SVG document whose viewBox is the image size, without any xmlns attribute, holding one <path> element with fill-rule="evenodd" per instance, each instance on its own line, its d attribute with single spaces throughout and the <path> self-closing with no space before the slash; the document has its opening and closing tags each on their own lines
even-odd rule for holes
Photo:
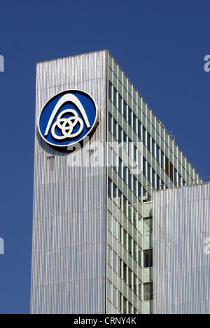
<svg viewBox="0 0 210 328">
<path fill-rule="evenodd" d="M 36 126 L 56 93 L 78 88 L 98 105 L 99 124 L 80 150 L 106 141 L 106 51 L 38 63 Z M 69 153 L 45 143 L 36 129 L 31 313 L 104 313 L 106 279 L 106 169 L 70 167 Z M 48 171 L 48 157 L 55 170 Z M 88 155 L 89 156 L 89 155 Z"/>
</svg>

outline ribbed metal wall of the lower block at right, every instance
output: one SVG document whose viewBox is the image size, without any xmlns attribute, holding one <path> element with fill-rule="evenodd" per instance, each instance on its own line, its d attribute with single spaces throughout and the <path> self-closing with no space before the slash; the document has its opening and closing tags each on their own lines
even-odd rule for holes
<svg viewBox="0 0 210 328">
<path fill-rule="evenodd" d="M 210 184 L 153 193 L 154 313 L 210 313 Z"/>
</svg>

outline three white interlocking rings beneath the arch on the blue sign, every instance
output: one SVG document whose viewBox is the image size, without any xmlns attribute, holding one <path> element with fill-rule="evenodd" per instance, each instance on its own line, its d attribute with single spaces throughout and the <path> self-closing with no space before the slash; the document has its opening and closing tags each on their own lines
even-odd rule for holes
<svg viewBox="0 0 210 328">
<path fill-rule="evenodd" d="M 73 116 L 71 117 L 63 117 L 62 116 L 66 113 L 71 113 L 73 114 Z M 80 124 L 80 128 L 78 129 L 78 131 L 76 133 L 72 133 L 74 127 L 77 124 Z M 58 128 L 62 131 L 62 136 L 57 136 L 57 134 L 55 133 L 55 128 Z M 78 113 L 76 112 L 76 110 L 63 110 L 57 117 L 56 122 L 52 125 L 52 129 L 51 129 L 51 133 L 53 138 L 57 139 L 57 140 L 62 140 L 65 138 L 75 138 L 76 136 L 79 136 L 80 133 L 83 131 L 84 129 L 84 122 L 83 119 L 81 119 L 80 117 L 78 117 Z"/>
</svg>

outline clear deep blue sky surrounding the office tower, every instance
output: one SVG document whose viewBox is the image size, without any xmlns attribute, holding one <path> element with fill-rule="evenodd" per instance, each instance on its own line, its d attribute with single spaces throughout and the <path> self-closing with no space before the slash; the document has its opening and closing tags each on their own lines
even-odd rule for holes
<svg viewBox="0 0 210 328">
<path fill-rule="evenodd" d="M 210 176 L 210 1 L 1 0 L 0 13 L 0 313 L 29 313 L 36 63 L 108 49 Z"/>
</svg>

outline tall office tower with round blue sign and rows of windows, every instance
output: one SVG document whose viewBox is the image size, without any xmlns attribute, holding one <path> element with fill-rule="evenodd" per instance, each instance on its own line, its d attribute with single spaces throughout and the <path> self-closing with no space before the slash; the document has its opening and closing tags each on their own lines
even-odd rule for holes
<svg viewBox="0 0 210 328">
<path fill-rule="evenodd" d="M 153 313 L 151 196 L 195 183 L 108 51 L 38 63 L 31 313 Z"/>
</svg>

